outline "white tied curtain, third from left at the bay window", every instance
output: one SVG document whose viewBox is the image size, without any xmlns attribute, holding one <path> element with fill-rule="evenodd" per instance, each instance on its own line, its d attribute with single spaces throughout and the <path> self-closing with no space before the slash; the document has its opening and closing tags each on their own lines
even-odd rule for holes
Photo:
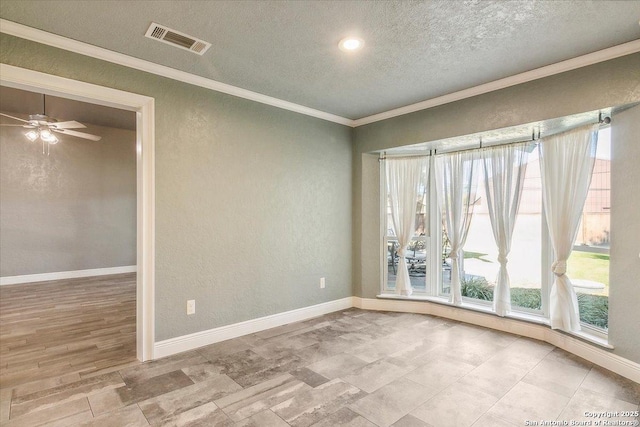
<svg viewBox="0 0 640 427">
<path fill-rule="evenodd" d="M 493 309 L 499 316 L 511 310 L 507 256 L 511 250 L 511 237 L 527 169 L 526 148 L 526 144 L 511 144 L 482 151 L 487 208 L 500 263 L 493 292 Z"/>
</svg>

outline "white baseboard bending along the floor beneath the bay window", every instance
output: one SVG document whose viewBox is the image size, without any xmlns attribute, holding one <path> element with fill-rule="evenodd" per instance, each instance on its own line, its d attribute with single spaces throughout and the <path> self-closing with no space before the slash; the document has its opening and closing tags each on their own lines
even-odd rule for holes
<svg viewBox="0 0 640 427">
<path fill-rule="evenodd" d="M 589 362 L 602 366 L 632 381 L 640 383 L 640 364 L 615 355 L 603 348 L 586 343 L 546 325 L 523 322 L 515 319 L 485 314 L 464 308 L 435 304 L 428 301 L 402 301 L 353 297 L 353 306 L 365 310 L 398 311 L 440 316 L 460 322 L 497 329 L 512 334 L 548 342 L 573 353 Z"/>
</svg>

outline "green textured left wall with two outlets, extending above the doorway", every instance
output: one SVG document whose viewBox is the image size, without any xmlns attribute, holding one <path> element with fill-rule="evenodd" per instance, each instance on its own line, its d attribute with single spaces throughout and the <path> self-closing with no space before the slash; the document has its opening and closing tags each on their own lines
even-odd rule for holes
<svg viewBox="0 0 640 427">
<path fill-rule="evenodd" d="M 350 128 L 5 34 L 0 43 L 3 63 L 155 98 L 156 340 L 352 295 Z"/>
</svg>

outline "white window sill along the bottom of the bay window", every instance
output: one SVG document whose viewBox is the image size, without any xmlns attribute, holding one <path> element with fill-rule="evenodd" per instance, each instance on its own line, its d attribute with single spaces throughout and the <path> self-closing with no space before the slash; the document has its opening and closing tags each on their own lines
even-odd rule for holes
<svg viewBox="0 0 640 427">
<path fill-rule="evenodd" d="M 480 304 L 473 304 L 473 303 L 469 303 L 467 301 L 462 301 L 461 305 L 455 305 L 449 302 L 449 298 L 445 298 L 445 297 L 434 297 L 434 296 L 430 296 L 430 295 L 411 295 L 411 296 L 403 296 L 403 295 L 397 295 L 397 294 L 388 294 L 388 293 L 382 293 L 379 295 L 376 295 L 376 298 L 378 299 L 388 299 L 388 300 L 400 300 L 400 301 L 422 301 L 422 302 L 431 302 L 431 303 L 435 303 L 435 304 L 441 304 L 441 305 L 446 305 L 449 307 L 456 307 L 456 308 L 461 308 L 464 310 L 471 310 L 471 311 L 476 311 L 476 312 L 480 312 L 480 313 L 484 313 L 484 314 L 491 314 L 495 317 L 500 317 L 498 315 L 496 315 L 493 312 L 493 308 L 491 306 L 484 306 L 484 305 L 480 305 Z M 549 325 L 549 320 L 545 319 L 541 316 L 536 316 L 534 314 L 529 314 L 529 313 L 522 313 L 522 312 L 510 312 L 509 314 L 507 314 L 505 316 L 505 318 L 507 319 L 513 319 L 513 320 L 520 320 L 523 322 L 528 322 L 528 323 L 534 323 L 537 325 L 541 325 L 541 326 L 546 326 L 548 328 L 550 328 Z M 576 338 L 579 338 L 583 341 L 587 341 L 590 344 L 595 344 L 599 347 L 605 348 L 607 350 L 613 350 L 613 346 L 611 344 L 609 344 L 607 342 L 606 338 L 597 336 L 595 334 L 590 334 L 588 332 L 585 332 L 584 330 L 581 331 L 575 331 L 575 332 L 565 332 L 565 331 L 559 331 L 561 333 L 564 334 L 568 334 L 571 336 L 574 336 Z"/>
</svg>

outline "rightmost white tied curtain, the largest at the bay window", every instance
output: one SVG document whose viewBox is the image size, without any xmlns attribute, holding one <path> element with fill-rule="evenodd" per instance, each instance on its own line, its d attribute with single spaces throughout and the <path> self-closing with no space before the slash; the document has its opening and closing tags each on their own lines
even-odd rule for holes
<svg viewBox="0 0 640 427">
<path fill-rule="evenodd" d="M 555 253 L 555 280 L 549 296 L 553 329 L 579 331 L 578 299 L 566 274 L 589 191 L 598 141 L 598 125 L 544 138 L 539 145 L 544 212 Z"/>
</svg>

